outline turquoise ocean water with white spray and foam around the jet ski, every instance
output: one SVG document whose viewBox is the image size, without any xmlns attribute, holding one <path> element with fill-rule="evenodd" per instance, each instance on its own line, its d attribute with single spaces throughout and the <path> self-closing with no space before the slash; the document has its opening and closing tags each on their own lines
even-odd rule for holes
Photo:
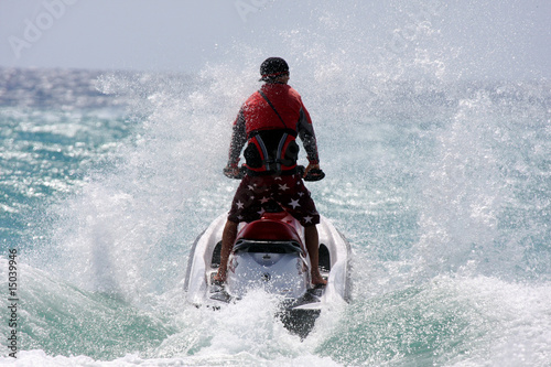
<svg viewBox="0 0 551 367">
<path fill-rule="evenodd" d="M 0 365 L 551 366 L 551 83 L 457 77 L 429 33 L 425 58 L 370 64 L 287 34 L 309 187 L 354 253 L 353 301 L 303 342 L 267 294 L 184 302 L 262 47 L 196 75 L 0 69 Z"/>
</svg>

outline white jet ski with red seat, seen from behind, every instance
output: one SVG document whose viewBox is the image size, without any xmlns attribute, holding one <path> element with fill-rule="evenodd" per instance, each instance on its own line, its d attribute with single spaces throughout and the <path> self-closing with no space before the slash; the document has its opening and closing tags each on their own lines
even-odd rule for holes
<svg viewBox="0 0 551 367">
<path fill-rule="evenodd" d="M 279 317 L 301 338 L 307 336 L 324 309 L 349 302 L 350 246 L 346 238 L 321 216 L 320 272 L 327 284 L 314 287 L 304 228 L 276 203 L 260 219 L 240 224 L 226 282 L 216 282 L 226 219 L 227 214 L 219 215 L 192 246 L 184 280 L 187 302 L 216 310 L 260 288 L 279 295 Z"/>
</svg>

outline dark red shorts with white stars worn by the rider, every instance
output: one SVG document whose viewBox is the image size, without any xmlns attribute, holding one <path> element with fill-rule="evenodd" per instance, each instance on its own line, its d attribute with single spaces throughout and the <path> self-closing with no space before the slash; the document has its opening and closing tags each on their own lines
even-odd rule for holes
<svg viewBox="0 0 551 367">
<path fill-rule="evenodd" d="M 260 219 L 266 207 L 273 202 L 282 206 L 303 227 L 320 223 L 310 191 L 300 174 L 289 176 L 246 175 L 237 188 L 228 219 L 235 223 Z"/>
</svg>

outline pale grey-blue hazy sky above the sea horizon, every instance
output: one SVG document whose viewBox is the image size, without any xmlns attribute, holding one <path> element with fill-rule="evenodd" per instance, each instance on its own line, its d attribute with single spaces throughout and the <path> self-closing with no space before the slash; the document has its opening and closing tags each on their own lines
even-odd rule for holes
<svg viewBox="0 0 551 367">
<path fill-rule="evenodd" d="M 424 51 L 475 77 L 550 78 L 550 15 L 549 0 L 0 0 L 0 67 L 196 73 L 293 45 L 294 58 Z"/>
</svg>

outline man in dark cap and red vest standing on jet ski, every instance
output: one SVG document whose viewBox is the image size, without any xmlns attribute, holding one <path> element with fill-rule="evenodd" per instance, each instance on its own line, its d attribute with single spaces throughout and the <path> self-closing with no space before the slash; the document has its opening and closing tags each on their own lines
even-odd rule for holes
<svg viewBox="0 0 551 367">
<path fill-rule="evenodd" d="M 248 143 L 244 152 L 247 174 L 237 188 L 224 228 L 220 267 L 215 280 L 226 280 L 227 262 L 237 237 L 238 224 L 259 219 L 263 213 L 262 206 L 277 202 L 304 227 L 312 283 L 326 284 L 317 268 L 318 237 L 315 225 L 320 223 L 320 214 L 296 170 L 300 149 L 295 138 L 300 137 L 310 162 L 304 175 L 309 172 L 323 174 L 312 120 L 299 93 L 288 85 L 289 65 L 283 58 L 267 58 L 260 66 L 260 80 L 266 83 L 247 99 L 234 122 L 229 160 L 224 173 L 229 177 L 239 175 L 239 155 L 245 143 Z"/>
</svg>

